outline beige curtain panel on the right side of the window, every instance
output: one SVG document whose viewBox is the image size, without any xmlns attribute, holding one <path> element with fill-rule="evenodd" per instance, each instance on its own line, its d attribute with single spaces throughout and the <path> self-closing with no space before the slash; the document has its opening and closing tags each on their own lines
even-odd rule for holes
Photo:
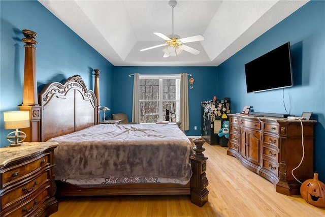
<svg viewBox="0 0 325 217">
<path fill-rule="evenodd" d="M 189 130 L 189 115 L 188 115 L 188 83 L 187 73 L 181 73 L 181 91 L 180 91 L 180 113 L 179 121 L 182 122 L 182 130 Z"/>
</svg>

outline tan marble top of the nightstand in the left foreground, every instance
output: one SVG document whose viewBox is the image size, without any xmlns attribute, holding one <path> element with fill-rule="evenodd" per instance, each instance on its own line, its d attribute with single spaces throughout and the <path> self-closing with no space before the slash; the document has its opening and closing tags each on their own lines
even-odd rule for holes
<svg viewBox="0 0 325 217">
<path fill-rule="evenodd" d="M 8 163 L 57 147 L 57 142 L 24 142 L 22 146 L 0 148 L 0 168 Z"/>
</svg>

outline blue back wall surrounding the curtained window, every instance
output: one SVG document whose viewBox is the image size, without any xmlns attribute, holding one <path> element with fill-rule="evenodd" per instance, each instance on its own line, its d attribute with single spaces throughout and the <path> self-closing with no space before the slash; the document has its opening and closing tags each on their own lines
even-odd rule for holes
<svg viewBox="0 0 325 217">
<path fill-rule="evenodd" d="M 133 76 L 129 74 L 191 74 L 193 88 L 188 86 L 189 130 L 187 136 L 201 136 L 201 101 L 212 100 L 213 96 L 221 99 L 216 91 L 216 67 L 114 67 L 114 111 L 128 114 L 132 118 Z M 190 77 L 188 76 L 188 79 Z M 197 126 L 197 130 L 194 127 Z"/>
</svg>

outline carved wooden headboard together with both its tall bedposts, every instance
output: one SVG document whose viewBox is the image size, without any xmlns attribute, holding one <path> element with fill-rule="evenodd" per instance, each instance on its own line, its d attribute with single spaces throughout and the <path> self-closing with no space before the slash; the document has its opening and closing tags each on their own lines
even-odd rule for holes
<svg viewBox="0 0 325 217">
<path fill-rule="evenodd" d="M 38 95 L 36 79 L 37 33 L 23 29 L 26 38 L 24 92 L 20 110 L 29 111 L 30 127 L 21 129 L 25 141 L 38 142 L 60 136 L 100 122 L 99 69 L 94 69 L 94 91 L 87 90 L 79 75 L 65 82 L 47 84 Z M 96 100 L 98 99 L 98 100 Z M 40 102 L 40 103 L 39 103 Z"/>
</svg>

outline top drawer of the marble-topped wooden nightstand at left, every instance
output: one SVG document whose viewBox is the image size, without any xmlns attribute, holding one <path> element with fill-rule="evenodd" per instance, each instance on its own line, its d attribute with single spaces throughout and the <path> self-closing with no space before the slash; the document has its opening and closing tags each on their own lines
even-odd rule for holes
<svg viewBox="0 0 325 217">
<path fill-rule="evenodd" d="M 46 153 L 22 164 L 9 167 L 1 176 L 1 189 L 5 188 L 8 184 L 25 179 L 33 173 L 40 171 L 42 168 L 50 165 L 50 160 L 50 153 Z"/>
</svg>

